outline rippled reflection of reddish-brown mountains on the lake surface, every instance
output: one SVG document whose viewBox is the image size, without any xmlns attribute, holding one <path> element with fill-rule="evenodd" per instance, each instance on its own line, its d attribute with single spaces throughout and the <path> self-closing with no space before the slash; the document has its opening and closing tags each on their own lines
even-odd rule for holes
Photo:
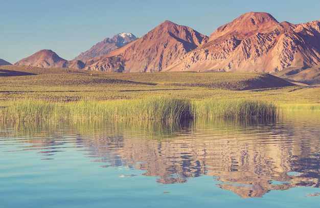
<svg viewBox="0 0 320 208">
<path fill-rule="evenodd" d="M 222 189 L 261 197 L 271 190 L 319 187 L 320 124 L 318 115 L 308 115 L 271 123 L 224 120 L 168 127 L 146 122 L 88 130 L 78 126 L 81 135 L 73 143 L 84 147 L 93 161 L 104 163 L 102 167 L 134 167 L 164 184 L 211 175 Z M 51 144 L 55 137 L 50 137 Z M 50 145 L 39 142 L 43 144 Z"/>
</svg>

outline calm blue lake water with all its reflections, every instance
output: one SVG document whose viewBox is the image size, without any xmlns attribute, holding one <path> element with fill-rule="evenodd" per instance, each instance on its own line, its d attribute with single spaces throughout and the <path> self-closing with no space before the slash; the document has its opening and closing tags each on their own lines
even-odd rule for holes
<svg viewBox="0 0 320 208">
<path fill-rule="evenodd" d="M 7 124 L 1 207 L 319 207 L 320 113 Z"/>
</svg>

